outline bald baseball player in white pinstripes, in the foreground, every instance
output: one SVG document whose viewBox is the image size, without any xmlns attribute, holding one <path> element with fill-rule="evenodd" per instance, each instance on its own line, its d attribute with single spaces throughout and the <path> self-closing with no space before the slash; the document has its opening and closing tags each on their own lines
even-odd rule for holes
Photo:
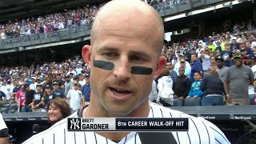
<svg viewBox="0 0 256 144">
<path fill-rule="evenodd" d="M 165 135 L 158 143 L 229 144 L 211 122 L 149 102 L 152 82 L 166 65 L 160 56 L 163 35 L 162 19 L 145 2 L 113 0 L 102 6 L 92 26 L 91 46 L 82 49 L 90 67 L 90 105 L 70 118 L 189 118 L 189 131 L 147 133 L 147 138 L 135 131 L 69 132 L 63 119 L 23 143 L 140 144 Z"/>
</svg>

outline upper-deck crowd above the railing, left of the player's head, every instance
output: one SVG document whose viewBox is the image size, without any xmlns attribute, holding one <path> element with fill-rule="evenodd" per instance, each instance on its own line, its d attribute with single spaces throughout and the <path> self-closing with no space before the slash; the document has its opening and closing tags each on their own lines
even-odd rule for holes
<svg viewBox="0 0 256 144">
<path fill-rule="evenodd" d="M 31 34 L 48 33 L 72 26 L 89 25 L 93 22 L 99 8 L 105 2 L 63 10 L 54 14 L 38 15 L 31 18 L 0 22 L 0 38 L 15 38 Z"/>
</svg>

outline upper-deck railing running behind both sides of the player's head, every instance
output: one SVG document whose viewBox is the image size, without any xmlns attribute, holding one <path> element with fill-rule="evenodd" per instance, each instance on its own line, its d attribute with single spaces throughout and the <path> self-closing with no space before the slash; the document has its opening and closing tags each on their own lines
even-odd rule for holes
<svg viewBox="0 0 256 144">
<path fill-rule="evenodd" d="M 154 9 L 164 17 L 191 10 L 192 8 L 210 5 L 224 0 L 167 0 L 166 2 L 154 5 Z M 24 46 L 35 46 L 50 42 L 62 42 L 69 39 L 89 37 L 92 22 L 88 25 L 70 27 L 63 30 L 52 31 L 44 34 L 31 34 L 19 36 L 18 38 L 0 39 L 0 50 L 18 48 Z"/>
</svg>

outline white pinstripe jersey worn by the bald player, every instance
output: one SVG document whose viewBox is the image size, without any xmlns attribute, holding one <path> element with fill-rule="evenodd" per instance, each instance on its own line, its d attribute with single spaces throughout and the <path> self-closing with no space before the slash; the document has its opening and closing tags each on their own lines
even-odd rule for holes
<svg viewBox="0 0 256 144">
<path fill-rule="evenodd" d="M 217 126 L 203 118 L 195 118 L 177 110 L 150 103 L 149 118 L 189 118 L 189 131 L 172 132 L 178 144 L 227 144 L 229 140 Z M 71 114 L 69 118 L 78 118 L 78 114 Z M 23 144 L 115 144 L 116 142 L 104 138 L 94 132 L 67 131 L 67 119 L 51 126 L 48 130 L 36 134 Z M 137 132 L 131 132 L 122 138 L 118 144 L 141 144 Z"/>
</svg>

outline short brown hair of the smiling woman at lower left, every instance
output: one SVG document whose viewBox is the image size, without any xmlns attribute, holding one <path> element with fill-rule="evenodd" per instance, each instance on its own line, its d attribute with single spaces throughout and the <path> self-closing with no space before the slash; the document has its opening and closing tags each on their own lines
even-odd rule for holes
<svg viewBox="0 0 256 144">
<path fill-rule="evenodd" d="M 55 98 L 55 99 L 50 100 L 50 102 L 46 106 L 47 111 L 49 110 L 50 106 L 59 108 L 61 110 L 63 118 L 66 118 L 66 117 L 70 116 L 70 114 L 71 114 L 70 106 L 67 104 L 65 99 Z M 50 122 L 49 118 L 48 118 L 48 122 Z"/>
</svg>

